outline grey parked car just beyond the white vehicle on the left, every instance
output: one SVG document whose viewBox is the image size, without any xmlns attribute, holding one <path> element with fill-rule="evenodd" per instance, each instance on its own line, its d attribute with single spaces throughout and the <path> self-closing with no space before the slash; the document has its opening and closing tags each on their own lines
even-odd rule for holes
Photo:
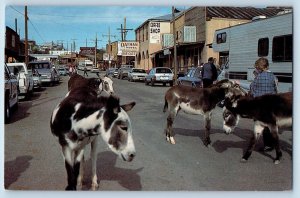
<svg viewBox="0 0 300 198">
<path fill-rule="evenodd" d="M 55 72 L 49 61 L 33 61 L 28 63 L 29 69 L 36 69 L 41 75 L 42 84 L 53 85 L 55 83 Z"/>
</svg>

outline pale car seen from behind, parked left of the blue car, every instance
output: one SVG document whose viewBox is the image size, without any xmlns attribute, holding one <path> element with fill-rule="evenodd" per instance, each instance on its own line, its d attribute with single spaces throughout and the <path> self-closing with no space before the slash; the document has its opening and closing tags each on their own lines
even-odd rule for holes
<svg viewBox="0 0 300 198">
<path fill-rule="evenodd" d="M 166 86 L 167 83 L 173 86 L 174 74 L 168 67 L 155 67 L 149 71 L 149 74 L 145 77 L 145 84 L 151 83 L 154 86 L 155 83 L 163 83 Z"/>
</svg>

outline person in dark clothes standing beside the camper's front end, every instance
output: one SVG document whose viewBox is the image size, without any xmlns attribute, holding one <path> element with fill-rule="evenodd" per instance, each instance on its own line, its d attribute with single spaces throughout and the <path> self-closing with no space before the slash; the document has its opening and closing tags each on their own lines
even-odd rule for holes
<svg viewBox="0 0 300 198">
<path fill-rule="evenodd" d="M 217 68 L 214 65 L 214 58 L 210 57 L 201 70 L 203 88 L 207 88 L 213 84 L 218 77 Z"/>
</svg>

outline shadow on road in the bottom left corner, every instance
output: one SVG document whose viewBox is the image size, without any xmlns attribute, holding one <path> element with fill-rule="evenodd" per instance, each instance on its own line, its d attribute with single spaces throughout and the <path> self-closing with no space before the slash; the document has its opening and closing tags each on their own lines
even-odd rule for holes
<svg viewBox="0 0 300 198">
<path fill-rule="evenodd" d="M 29 168 L 30 160 L 33 157 L 24 155 L 17 157 L 15 160 L 5 162 L 4 164 L 4 187 L 8 189 L 11 184 L 18 180 L 20 175 Z"/>
</svg>

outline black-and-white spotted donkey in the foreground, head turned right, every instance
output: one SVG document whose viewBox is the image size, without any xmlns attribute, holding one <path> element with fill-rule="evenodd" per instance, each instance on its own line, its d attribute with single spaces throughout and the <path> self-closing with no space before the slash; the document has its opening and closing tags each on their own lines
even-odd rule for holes
<svg viewBox="0 0 300 198">
<path fill-rule="evenodd" d="M 132 127 L 127 111 L 135 102 L 119 104 L 119 98 L 110 95 L 98 97 L 89 87 L 72 89 L 54 109 L 50 128 L 62 147 L 68 176 L 66 190 L 81 186 L 84 149 L 91 144 L 92 189 L 98 187 L 96 175 L 97 145 L 100 135 L 108 147 L 124 161 L 135 157 Z"/>
</svg>

